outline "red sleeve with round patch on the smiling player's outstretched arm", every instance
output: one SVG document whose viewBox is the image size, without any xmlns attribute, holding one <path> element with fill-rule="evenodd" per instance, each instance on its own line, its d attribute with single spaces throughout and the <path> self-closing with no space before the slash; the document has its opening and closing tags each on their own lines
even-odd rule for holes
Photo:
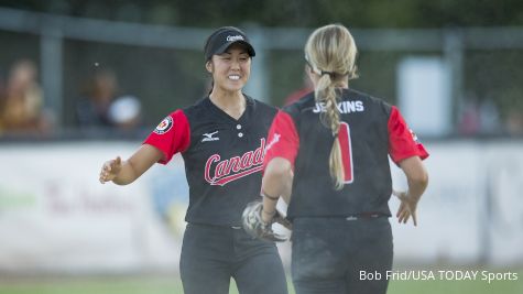
<svg viewBox="0 0 523 294">
<path fill-rule="evenodd" d="M 190 144 L 190 128 L 184 111 L 176 110 L 164 118 L 143 143 L 162 151 L 163 157 L 159 161 L 162 164 L 170 162 L 174 154 L 186 151 Z"/>
</svg>

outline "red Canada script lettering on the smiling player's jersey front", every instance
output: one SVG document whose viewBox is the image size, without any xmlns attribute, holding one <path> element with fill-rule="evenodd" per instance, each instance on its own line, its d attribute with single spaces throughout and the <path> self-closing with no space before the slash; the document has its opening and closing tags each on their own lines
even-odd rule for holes
<svg viewBox="0 0 523 294">
<path fill-rule="evenodd" d="M 262 170 L 265 139 L 260 139 L 260 146 L 241 156 L 221 161 L 219 154 L 213 154 L 205 164 L 205 181 L 210 185 L 220 185 L 236 181 Z"/>
</svg>

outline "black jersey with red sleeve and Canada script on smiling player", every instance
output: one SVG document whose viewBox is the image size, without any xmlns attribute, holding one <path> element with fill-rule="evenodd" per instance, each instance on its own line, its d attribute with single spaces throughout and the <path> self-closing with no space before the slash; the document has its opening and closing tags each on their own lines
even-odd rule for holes
<svg viewBox="0 0 523 294">
<path fill-rule="evenodd" d="M 166 117 L 144 141 L 166 164 L 182 153 L 189 186 L 185 220 L 241 226 L 241 213 L 257 199 L 265 139 L 276 109 L 246 96 L 246 110 L 233 119 L 204 98 Z"/>
</svg>

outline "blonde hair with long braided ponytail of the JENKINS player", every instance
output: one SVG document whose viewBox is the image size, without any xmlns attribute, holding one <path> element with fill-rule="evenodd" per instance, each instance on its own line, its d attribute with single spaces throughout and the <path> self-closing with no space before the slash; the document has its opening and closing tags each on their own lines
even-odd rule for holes
<svg viewBox="0 0 523 294">
<path fill-rule="evenodd" d="M 341 146 L 338 139 L 340 113 L 338 92 L 344 81 L 356 78 L 357 48 L 352 35 L 340 24 L 330 24 L 317 29 L 310 34 L 305 45 L 305 58 L 310 68 L 319 75 L 316 83 L 315 99 L 325 106 L 320 121 L 330 129 L 334 137 L 329 155 L 329 172 L 334 187 L 341 189 L 345 185 L 345 168 Z"/>
</svg>

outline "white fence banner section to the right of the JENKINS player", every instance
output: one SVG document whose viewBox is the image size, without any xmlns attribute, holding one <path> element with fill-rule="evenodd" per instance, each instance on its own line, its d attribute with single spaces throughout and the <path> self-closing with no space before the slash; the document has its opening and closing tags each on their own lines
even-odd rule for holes
<svg viewBox="0 0 523 294">
<path fill-rule="evenodd" d="M 393 222 L 395 260 L 415 263 L 523 263 L 523 144 L 426 144 L 429 184 L 418 227 Z M 393 166 L 395 187 L 406 187 Z M 399 200 L 391 199 L 395 214 Z"/>
</svg>

